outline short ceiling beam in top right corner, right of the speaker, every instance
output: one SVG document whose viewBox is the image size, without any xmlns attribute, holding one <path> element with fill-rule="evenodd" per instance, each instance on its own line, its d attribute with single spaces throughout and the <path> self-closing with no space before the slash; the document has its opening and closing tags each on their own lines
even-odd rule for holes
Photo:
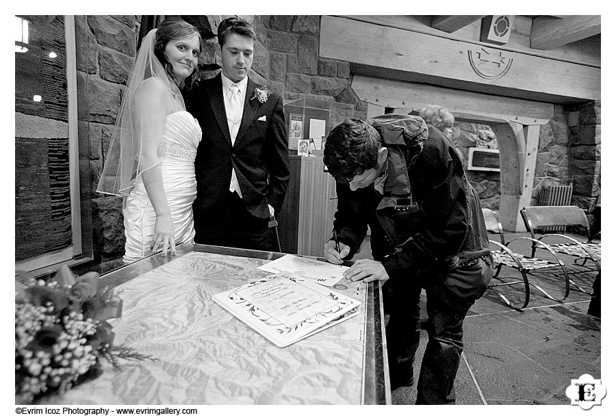
<svg viewBox="0 0 616 420">
<path fill-rule="evenodd" d="M 601 34 L 601 16 L 598 15 L 574 15 L 564 18 L 538 16 L 532 19 L 530 47 L 554 49 L 597 34 Z"/>
</svg>

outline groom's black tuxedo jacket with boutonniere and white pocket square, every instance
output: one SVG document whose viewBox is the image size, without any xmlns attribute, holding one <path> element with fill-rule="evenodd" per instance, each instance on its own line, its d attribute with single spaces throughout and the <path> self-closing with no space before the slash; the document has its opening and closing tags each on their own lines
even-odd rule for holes
<svg viewBox="0 0 616 420">
<path fill-rule="evenodd" d="M 270 215 L 268 204 L 277 211 L 282 207 L 289 182 L 283 101 L 275 93 L 265 103 L 253 99 L 258 87 L 248 79 L 242 123 L 233 146 L 220 74 L 199 81 L 187 94 L 187 109 L 203 131 L 194 162 L 197 194 L 193 211 L 197 231 L 201 224 L 207 224 L 208 213 L 224 211 L 217 207 L 229 191 L 232 166 L 248 211 L 266 219 Z"/>
</svg>

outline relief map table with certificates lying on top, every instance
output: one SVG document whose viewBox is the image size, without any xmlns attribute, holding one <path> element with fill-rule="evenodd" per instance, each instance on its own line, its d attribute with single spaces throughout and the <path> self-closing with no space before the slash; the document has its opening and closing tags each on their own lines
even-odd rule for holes
<svg viewBox="0 0 616 420">
<path fill-rule="evenodd" d="M 211 299 L 283 255 L 184 244 L 101 276 L 123 300 L 114 345 L 155 359 L 103 361 L 99 378 L 45 403 L 391 404 L 377 283 L 341 280 L 359 315 L 284 348 Z"/>
</svg>

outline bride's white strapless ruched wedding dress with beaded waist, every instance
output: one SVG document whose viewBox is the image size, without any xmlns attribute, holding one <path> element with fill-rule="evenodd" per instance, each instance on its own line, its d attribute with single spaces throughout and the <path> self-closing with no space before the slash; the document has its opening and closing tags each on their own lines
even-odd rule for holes
<svg viewBox="0 0 616 420">
<path fill-rule="evenodd" d="M 161 159 L 165 196 L 171 211 L 175 244 L 194 238 L 192 202 L 196 197 L 194 158 L 201 141 L 201 127 L 188 111 L 178 111 L 165 118 L 158 157 Z M 126 200 L 124 229 L 126 246 L 124 262 L 131 263 L 151 255 L 156 214 L 139 176 Z M 160 250 L 160 247 L 158 248 Z"/>
</svg>

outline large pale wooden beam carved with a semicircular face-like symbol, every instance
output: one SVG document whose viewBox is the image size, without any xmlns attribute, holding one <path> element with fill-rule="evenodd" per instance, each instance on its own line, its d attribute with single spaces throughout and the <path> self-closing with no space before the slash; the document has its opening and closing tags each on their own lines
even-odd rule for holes
<svg viewBox="0 0 616 420">
<path fill-rule="evenodd" d="M 322 16 L 320 56 L 389 79 L 541 101 L 601 99 L 600 68 L 349 18 Z"/>
</svg>

